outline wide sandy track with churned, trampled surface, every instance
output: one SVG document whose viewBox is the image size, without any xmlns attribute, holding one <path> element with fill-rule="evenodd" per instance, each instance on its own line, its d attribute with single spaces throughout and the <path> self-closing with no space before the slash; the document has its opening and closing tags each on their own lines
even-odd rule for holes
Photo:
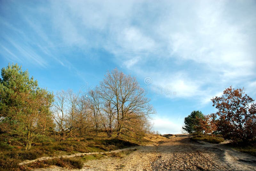
<svg viewBox="0 0 256 171">
<path fill-rule="evenodd" d="M 188 136 L 149 137 L 154 143 L 136 147 L 124 158 L 89 160 L 80 171 L 92 170 L 256 170 L 256 157 L 221 144 L 191 142 Z M 131 150 L 131 149 L 124 149 Z M 50 167 L 39 170 L 67 170 Z M 78 169 L 76 169 L 78 170 Z"/>
</svg>

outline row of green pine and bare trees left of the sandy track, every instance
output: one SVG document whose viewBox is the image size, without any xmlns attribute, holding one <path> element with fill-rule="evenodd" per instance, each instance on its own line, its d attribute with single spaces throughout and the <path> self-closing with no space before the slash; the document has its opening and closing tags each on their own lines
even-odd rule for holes
<svg viewBox="0 0 256 171">
<path fill-rule="evenodd" d="M 150 99 L 136 78 L 117 69 L 87 93 L 69 89 L 55 95 L 18 64 L 2 68 L 1 76 L 0 133 L 26 150 L 49 137 L 65 141 L 105 132 L 140 138 L 151 129 Z"/>
</svg>

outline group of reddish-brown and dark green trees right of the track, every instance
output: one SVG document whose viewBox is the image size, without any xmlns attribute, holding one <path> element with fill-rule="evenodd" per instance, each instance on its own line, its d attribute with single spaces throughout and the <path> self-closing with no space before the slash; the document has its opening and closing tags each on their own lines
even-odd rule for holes
<svg viewBox="0 0 256 171">
<path fill-rule="evenodd" d="M 211 99 L 217 112 L 204 115 L 193 111 L 185 117 L 183 130 L 188 133 L 221 134 L 234 142 L 251 143 L 256 139 L 256 104 L 244 88 L 226 88 Z"/>
</svg>

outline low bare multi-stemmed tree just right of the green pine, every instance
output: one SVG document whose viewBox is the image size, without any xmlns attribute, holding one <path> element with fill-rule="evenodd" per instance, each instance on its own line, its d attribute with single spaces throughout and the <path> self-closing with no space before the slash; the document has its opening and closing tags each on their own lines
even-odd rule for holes
<svg viewBox="0 0 256 171">
<path fill-rule="evenodd" d="M 61 141 L 68 136 L 82 136 L 90 127 L 91 117 L 84 96 L 72 90 L 57 92 L 53 102 L 52 117 Z"/>
</svg>

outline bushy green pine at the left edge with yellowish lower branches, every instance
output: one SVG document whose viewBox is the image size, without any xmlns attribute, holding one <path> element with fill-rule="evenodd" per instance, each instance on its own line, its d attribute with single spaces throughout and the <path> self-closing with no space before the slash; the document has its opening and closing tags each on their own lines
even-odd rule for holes
<svg viewBox="0 0 256 171">
<path fill-rule="evenodd" d="M 0 126 L 10 138 L 30 149 L 36 136 L 44 134 L 51 122 L 53 94 L 38 87 L 28 71 L 18 64 L 2 68 L 0 78 Z"/>
</svg>

